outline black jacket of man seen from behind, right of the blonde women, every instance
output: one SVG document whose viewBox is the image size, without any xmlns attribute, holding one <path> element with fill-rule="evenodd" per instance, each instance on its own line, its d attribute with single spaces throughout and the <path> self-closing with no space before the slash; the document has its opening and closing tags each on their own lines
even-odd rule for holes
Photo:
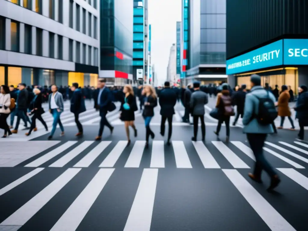
<svg viewBox="0 0 308 231">
<path fill-rule="evenodd" d="M 162 90 L 159 97 L 160 115 L 171 117 L 174 114 L 176 100 L 176 92 L 173 89 L 165 88 Z"/>
</svg>

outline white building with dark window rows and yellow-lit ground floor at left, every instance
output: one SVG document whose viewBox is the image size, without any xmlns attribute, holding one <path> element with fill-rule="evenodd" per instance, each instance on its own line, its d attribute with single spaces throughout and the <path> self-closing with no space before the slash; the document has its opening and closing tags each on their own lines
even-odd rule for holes
<svg viewBox="0 0 308 231">
<path fill-rule="evenodd" d="M 0 84 L 96 86 L 97 0 L 0 0 L 0 6 Z"/>
</svg>

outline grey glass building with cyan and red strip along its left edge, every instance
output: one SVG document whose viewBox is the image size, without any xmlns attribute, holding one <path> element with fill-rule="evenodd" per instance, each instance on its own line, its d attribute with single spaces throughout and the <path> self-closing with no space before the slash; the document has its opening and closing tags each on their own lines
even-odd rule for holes
<svg viewBox="0 0 308 231">
<path fill-rule="evenodd" d="M 184 0 L 183 7 L 184 84 L 226 81 L 226 0 Z"/>
</svg>

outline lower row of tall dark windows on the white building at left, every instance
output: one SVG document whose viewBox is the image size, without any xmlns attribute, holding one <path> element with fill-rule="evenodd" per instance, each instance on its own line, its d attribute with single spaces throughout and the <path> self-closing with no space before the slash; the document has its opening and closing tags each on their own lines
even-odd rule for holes
<svg viewBox="0 0 308 231">
<path fill-rule="evenodd" d="M 5 50 L 6 41 L 5 41 L 5 18 L 0 18 L 0 49 Z M 24 24 L 24 37 L 20 36 L 20 23 L 16 21 L 11 21 L 10 24 L 10 51 L 15 52 L 23 52 L 29 55 L 38 55 L 43 56 L 43 29 L 38 27 L 33 27 L 27 24 Z M 35 30 L 35 37 L 32 36 L 33 28 Z M 55 51 L 55 39 L 58 39 L 58 47 L 57 51 Z M 24 51 L 20 49 L 20 39 L 24 39 Z M 35 43 L 32 43 L 32 40 L 35 39 Z M 32 45 L 35 44 L 35 53 L 32 52 Z M 54 34 L 52 32 L 48 32 L 48 44 L 49 58 L 56 58 L 55 54 L 57 54 L 57 59 L 63 60 L 63 36 Z M 73 40 L 69 39 L 68 44 L 68 61 L 73 62 Z M 65 47 L 64 47 L 65 49 Z M 82 50 L 81 50 L 82 49 Z M 88 49 L 88 62 L 86 63 L 87 57 L 87 49 Z M 80 59 L 82 52 L 83 60 Z M 83 63 L 92 65 L 92 47 L 87 46 L 86 44 L 82 44 L 76 41 L 76 63 Z M 94 47 L 94 66 L 98 66 L 98 48 Z"/>
</svg>

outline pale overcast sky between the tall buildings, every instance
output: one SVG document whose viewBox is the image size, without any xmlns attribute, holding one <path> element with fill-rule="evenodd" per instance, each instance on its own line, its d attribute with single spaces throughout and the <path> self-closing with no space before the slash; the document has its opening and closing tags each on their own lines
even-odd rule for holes
<svg viewBox="0 0 308 231">
<path fill-rule="evenodd" d="M 182 0 L 148 0 L 148 23 L 152 25 L 151 62 L 162 85 L 172 43 L 176 43 L 176 22 L 181 21 Z"/>
</svg>

